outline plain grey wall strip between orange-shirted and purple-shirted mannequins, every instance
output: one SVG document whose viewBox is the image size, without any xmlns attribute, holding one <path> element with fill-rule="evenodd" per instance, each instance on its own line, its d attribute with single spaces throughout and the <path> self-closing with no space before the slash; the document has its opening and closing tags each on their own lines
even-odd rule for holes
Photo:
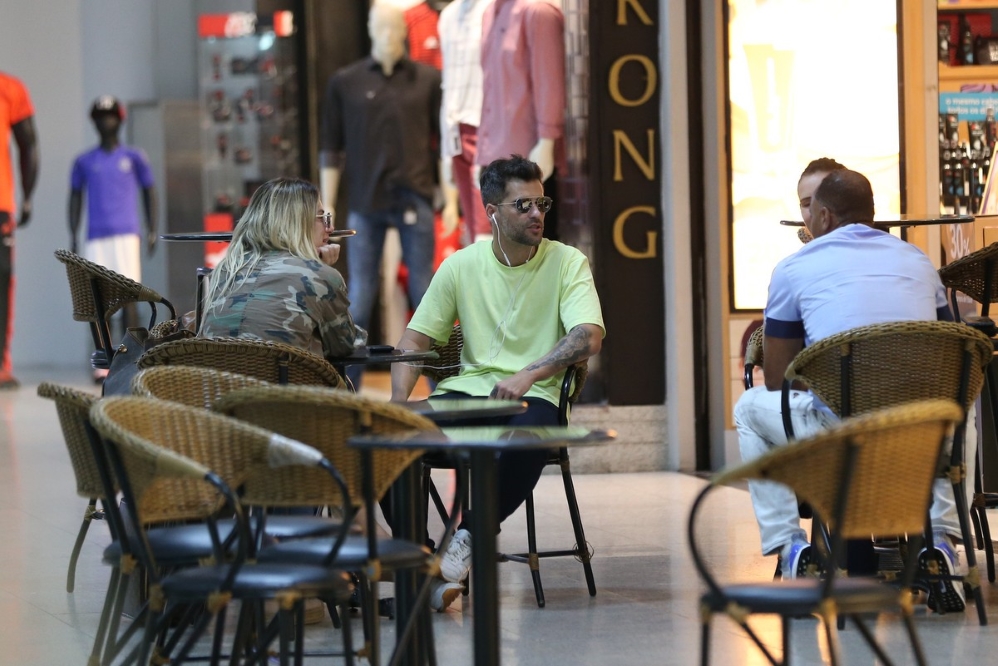
<svg viewBox="0 0 998 666">
<path fill-rule="evenodd" d="M 71 318 L 66 274 L 52 252 L 66 247 L 68 169 L 85 139 L 79 117 L 83 3 L 0 0 L 0 5 L 0 68 L 27 84 L 41 148 L 34 214 L 16 235 L 14 371 L 26 364 L 82 365 L 92 343 L 85 325 Z"/>
</svg>

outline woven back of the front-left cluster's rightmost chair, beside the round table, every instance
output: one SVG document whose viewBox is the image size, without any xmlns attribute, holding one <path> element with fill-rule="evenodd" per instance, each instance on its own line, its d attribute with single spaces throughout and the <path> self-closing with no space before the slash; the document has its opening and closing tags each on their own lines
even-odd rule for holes
<svg viewBox="0 0 998 666">
<path fill-rule="evenodd" d="M 233 391 L 215 409 L 249 421 L 285 437 L 314 446 L 340 471 L 350 492 L 350 504 L 364 503 L 360 452 L 347 439 L 361 432 L 385 434 L 406 430 L 432 430 L 429 420 L 404 407 L 358 396 L 349 391 L 309 386 L 265 386 Z M 388 487 L 421 451 L 372 452 L 374 498 Z M 331 494 L 332 493 L 332 494 Z M 312 470 L 271 470 L 253 477 L 244 488 L 248 504 L 312 506 L 339 503 L 339 492 L 328 477 Z M 264 501 L 266 498 L 266 502 Z"/>
</svg>

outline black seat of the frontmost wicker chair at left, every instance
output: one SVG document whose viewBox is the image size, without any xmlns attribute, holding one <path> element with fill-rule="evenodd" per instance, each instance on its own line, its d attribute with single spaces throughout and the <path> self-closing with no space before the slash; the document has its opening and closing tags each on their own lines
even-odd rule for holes
<svg viewBox="0 0 998 666">
<path fill-rule="evenodd" d="M 230 570 L 224 564 L 181 569 L 166 576 L 160 585 L 173 601 L 205 599 L 218 591 Z M 238 599 L 270 599 L 285 590 L 319 591 L 324 600 L 342 603 L 350 598 L 353 584 L 346 572 L 337 569 L 254 564 L 240 569 L 232 585 L 232 595 Z"/>
</svg>

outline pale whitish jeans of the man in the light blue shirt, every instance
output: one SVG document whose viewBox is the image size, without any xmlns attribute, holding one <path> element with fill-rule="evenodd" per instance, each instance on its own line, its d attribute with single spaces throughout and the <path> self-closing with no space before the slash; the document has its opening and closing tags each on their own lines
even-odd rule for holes
<svg viewBox="0 0 998 666">
<path fill-rule="evenodd" d="M 806 391 L 790 392 L 790 415 L 794 435 L 798 439 L 814 435 L 838 421 L 835 416 L 814 409 L 811 394 Z M 735 428 L 738 430 L 738 448 L 743 461 L 754 460 L 774 446 L 785 446 L 787 437 L 783 431 L 780 391 L 768 391 L 765 386 L 757 386 L 743 393 L 735 404 Z M 973 498 L 977 463 L 977 430 L 973 409 L 967 419 L 964 441 L 969 505 Z M 949 444 L 946 448 L 949 450 Z M 806 538 L 797 515 L 797 497 L 790 488 L 773 481 L 749 481 L 748 485 L 755 519 L 759 523 L 763 555 L 778 553 L 794 535 Z M 936 479 L 932 486 L 929 516 L 934 531 L 941 530 L 960 537 L 953 486 L 947 479 Z"/>
</svg>

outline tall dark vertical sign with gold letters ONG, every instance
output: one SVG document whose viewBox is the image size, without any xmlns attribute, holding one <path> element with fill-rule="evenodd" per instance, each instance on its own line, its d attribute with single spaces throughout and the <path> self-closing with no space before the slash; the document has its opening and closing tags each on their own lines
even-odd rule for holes
<svg viewBox="0 0 998 666">
<path fill-rule="evenodd" d="M 612 405 L 665 400 L 658 4 L 590 3 L 591 200 Z"/>
</svg>

